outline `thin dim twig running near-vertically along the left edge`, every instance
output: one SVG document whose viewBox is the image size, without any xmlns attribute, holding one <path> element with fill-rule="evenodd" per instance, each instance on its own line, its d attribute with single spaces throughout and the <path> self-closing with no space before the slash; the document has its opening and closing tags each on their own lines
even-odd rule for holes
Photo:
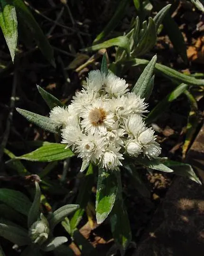
<svg viewBox="0 0 204 256">
<path fill-rule="evenodd" d="M 13 86 L 12 86 L 12 93 L 11 93 L 11 97 L 10 97 L 10 111 L 9 111 L 9 115 L 7 118 L 7 122 L 6 122 L 6 129 L 5 132 L 3 134 L 3 139 L 0 145 L 0 162 L 1 162 L 1 158 L 3 155 L 3 151 L 4 148 L 6 147 L 6 144 L 8 142 L 8 138 L 9 138 L 9 133 L 10 133 L 10 124 L 12 122 L 13 119 L 13 111 L 15 108 L 15 102 L 16 102 L 16 87 L 17 87 L 17 69 L 14 69 L 14 74 L 13 74 Z"/>
</svg>

